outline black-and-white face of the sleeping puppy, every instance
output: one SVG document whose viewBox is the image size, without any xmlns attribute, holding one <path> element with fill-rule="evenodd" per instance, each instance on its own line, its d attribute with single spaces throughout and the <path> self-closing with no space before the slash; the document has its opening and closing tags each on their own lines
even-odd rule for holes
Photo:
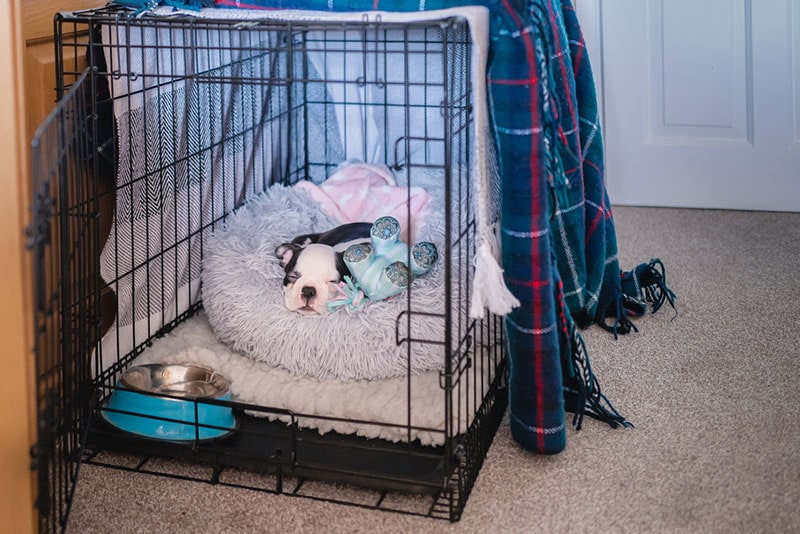
<svg viewBox="0 0 800 534">
<path fill-rule="evenodd" d="M 328 300 L 336 293 L 344 263 L 333 247 L 312 243 L 284 243 L 275 254 L 286 271 L 283 299 L 286 307 L 307 315 L 326 314 Z"/>
</svg>

